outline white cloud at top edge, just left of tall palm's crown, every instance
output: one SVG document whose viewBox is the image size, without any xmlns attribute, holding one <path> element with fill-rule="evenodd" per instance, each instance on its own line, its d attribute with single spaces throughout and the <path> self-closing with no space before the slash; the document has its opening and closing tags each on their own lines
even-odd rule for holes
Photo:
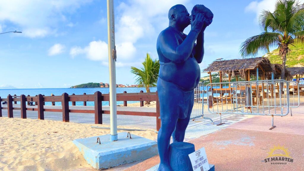
<svg viewBox="0 0 304 171">
<path fill-rule="evenodd" d="M 275 0 L 262 0 L 262 1 L 253 1 L 250 2 L 245 7 L 245 12 L 254 12 L 256 13 L 256 21 L 258 17 L 261 15 L 262 10 L 268 10 L 270 12 L 274 12 L 275 10 Z M 300 3 L 304 3 L 304 0 L 299 0 Z"/>
</svg>

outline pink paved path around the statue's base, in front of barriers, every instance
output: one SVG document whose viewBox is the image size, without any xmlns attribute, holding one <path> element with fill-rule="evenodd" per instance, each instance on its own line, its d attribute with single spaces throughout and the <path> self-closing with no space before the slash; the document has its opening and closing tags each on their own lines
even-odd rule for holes
<svg viewBox="0 0 304 171">
<path fill-rule="evenodd" d="M 205 147 L 208 161 L 217 171 L 304 170 L 304 106 L 292 109 L 293 116 L 275 117 L 273 130 L 270 116 L 245 119 L 212 134 L 189 141 L 196 149 Z M 265 163 L 270 148 L 284 146 L 293 162 L 286 165 Z M 275 153 L 282 153 L 276 150 Z M 159 157 L 147 159 L 126 171 L 145 171 L 159 163 Z"/>
</svg>

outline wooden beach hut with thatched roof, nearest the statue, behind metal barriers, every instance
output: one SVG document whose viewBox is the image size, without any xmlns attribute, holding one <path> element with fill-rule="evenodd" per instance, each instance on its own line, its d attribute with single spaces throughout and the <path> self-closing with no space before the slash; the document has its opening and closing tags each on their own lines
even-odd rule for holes
<svg viewBox="0 0 304 171">
<path fill-rule="evenodd" d="M 268 58 L 258 57 L 258 58 L 245 58 L 245 59 L 232 59 L 232 60 L 223 60 L 223 61 L 213 61 L 206 69 L 203 70 L 203 72 L 207 72 L 209 74 L 209 80 L 210 83 L 212 83 L 212 72 L 219 73 L 219 82 L 223 82 L 223 77 L 228 75 L 228 82 L 231 82 L 231 77 L 235 77 L 236 81 L 240 81 L 239 79 L 245 79 L 246 81 L 250 81 L 250 78 L 252 76 L 255 77 L 255 80 L 274 80 L 279 79 L 281 76 L 281 69 L 282 65 L 280 64 L 271 64 Z M 285 70 L 285 78 L 286 80 L 291 80 L 292 75 L 288 72 L 288 70 Z M 231 85 L 229 85 L 229 88 L 225 87 L 223 88 L 223 84 L 220 84 L 220 87 L 216 88 L 210 88 L 212 91 L 211 96 L 209 97 L 209 107 L 213 106 L 213 103 L 215 102 L 222 102 L 222 100 L 232 100 L 228 97 L 222 97 L 223 94 L 220 94 L 219 97 L 213 97 L 213 92 L 219 92 L 224 91 L 228 96 L 231 96 Z M 272 85 L 275 86 L 275 85 Z M 258 97 L 258 92 L 264 92 L 263 84 L 259 85 L 259 87 L 252 87 L 253 96 Z M 274 89 L 271 90 L 271 96 L 273 96 Z M 254 94 L 256 93 L 256 94 Z M 264 96 L 266 97 L 266 95 Z M 261 101 L 258 99 L 252 99 L 253 103 L 254 101 Z"/>
</svg>

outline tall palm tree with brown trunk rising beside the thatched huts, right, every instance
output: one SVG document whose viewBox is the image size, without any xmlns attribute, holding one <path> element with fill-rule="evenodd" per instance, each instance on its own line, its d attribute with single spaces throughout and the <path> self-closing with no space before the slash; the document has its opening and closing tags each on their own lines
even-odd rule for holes
<svg viewBox="0 0 304 171">
<path fill-rule="evenodd" d="M 263 10 L 259 17 L 263 33 L 248 38 L 241 44 L 240 54 L 256 56 L 258 51 L 269 53 L 269 47 L 277 47 L 282 59 L 281 79 L 285 79 L 286 56 L 294 42 L 304 43 L 304 4 L 295 0 L 278 0 L 275 11 Z"/>
</svg>

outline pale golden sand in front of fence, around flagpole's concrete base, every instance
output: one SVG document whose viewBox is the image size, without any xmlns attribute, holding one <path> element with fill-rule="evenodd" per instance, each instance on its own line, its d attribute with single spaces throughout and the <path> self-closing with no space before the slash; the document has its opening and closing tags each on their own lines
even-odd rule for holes
<svg viewBox="0 0 304 171">
<path fill-rule="evenodd" d="M 110 133 L 110 130 L 91 128 L 93 125 L 101 126 L 97 124 L 64 123 L 54 120 L 0 117 L 0 125 L 2 171 L 91 168 L 72 141 Z M 109 125 L 103 124 L 102 127 Z M 154 131 L 132 131 L 132 134 L 154 140 L 157 138 Z"/>
</svg>

